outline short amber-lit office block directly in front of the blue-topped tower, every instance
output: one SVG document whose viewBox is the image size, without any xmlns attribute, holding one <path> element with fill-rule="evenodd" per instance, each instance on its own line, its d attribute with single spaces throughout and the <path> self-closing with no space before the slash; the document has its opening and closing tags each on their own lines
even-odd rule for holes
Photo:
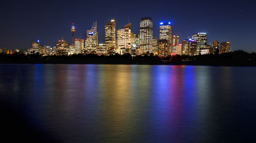
<svg viewBox="0 0 256 143">
<path fill-rule="evenodd" d="M 159 57 L 166 57 L 167 55 L 170 55 L 171 49 L 170 49 L 170 40 L 159 40 L 158 41 L 158 56 Z"/>
</svg>

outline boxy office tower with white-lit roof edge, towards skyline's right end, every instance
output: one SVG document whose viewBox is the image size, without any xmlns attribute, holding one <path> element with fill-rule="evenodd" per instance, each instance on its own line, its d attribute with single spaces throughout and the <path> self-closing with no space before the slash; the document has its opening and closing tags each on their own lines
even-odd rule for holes
<svg viewBox="0 0 256 143">
<path fill-rule="evenodd" d="M 197 55 L 200 49 L 207 48 L 207 33 L 192 34 L 191 38 L 197 42 Z"/>
</svg>

